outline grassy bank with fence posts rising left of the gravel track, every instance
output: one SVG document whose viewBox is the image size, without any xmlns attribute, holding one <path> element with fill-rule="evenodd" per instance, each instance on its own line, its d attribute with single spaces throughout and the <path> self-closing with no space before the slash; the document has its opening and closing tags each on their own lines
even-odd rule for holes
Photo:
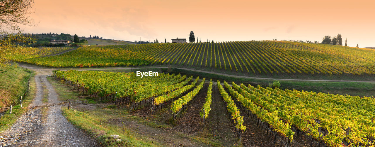
<svg viewBox="0 0 375 147">
<path fill-rule="evenodd" d="M 19 68 L 7 67 L 1 69 L 3 70 L 3 73 L 0 74 L 0 79 L 5 79 L 6 81 L 2 81 L 0 83 L 0 98 L 1 101 L 5 101 L 7 105 L 10 105 L 11 103 L 13 103 L 12 101 L 13 99 L 15 99 L 15 97 L 18 98 L 18 96 L 21 95 L 21 93 L 24 93 L 24 90 L 26 90 L 26 87 L 24 87 L 24 85 L 27 84 L 26 81 L 29 77 L 29 74 L 27 74 L 27 72 L 25 72 L 23 69 Z M 5 70 L 7 72 L 4 72 Z M 4 91 L 8 92 L 4 93 Z M 17 120 L 18 117 L 27 112 L 28 105 L 31 103 L 35 96 L 35 91 L 36 89 L 34 78 L 30 78 L 30 93 L 27 93 L 26 97 L 22 98 L 23 107 L 21 108 L 20 103 L 17 101 L 16 106 L 13 106 L 12 108 L 11 115 L 9 114 L 9 109 L 5 112 L 5 114 L 0 118 L 0 132 L 8 129 Z M 10 97 L 12 95 L 15 97 Z"/>
</svg>

